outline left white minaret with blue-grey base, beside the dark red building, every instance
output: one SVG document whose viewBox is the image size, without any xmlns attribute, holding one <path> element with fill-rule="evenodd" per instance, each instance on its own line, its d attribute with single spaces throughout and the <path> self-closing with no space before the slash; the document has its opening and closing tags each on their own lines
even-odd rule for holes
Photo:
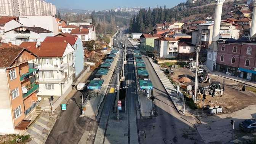
<svg viewBox="0 0 256 144">
<path fill-rule="evenodd" d="M 213 39 L 211 41 L 210 50 L 207 51 L 206 65 L 211 71 L 216 70 L 216 58 L 219 40 L 219 29 L 221 27 L 222 6 L 225 0 L 216 0 L 215 17 L 213 25 Z"/>
</svg>

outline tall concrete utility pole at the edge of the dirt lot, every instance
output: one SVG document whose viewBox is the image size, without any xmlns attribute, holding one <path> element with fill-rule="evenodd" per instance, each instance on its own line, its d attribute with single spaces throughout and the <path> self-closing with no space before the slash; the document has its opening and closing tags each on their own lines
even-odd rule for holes
<svg viewBox="0 0 256 144">
<path fill-rule="evenodd" d="M 195 49 L 196 59 L 195 59 L 195 95 L 194 95 L 194 98 L 193 98 L 194 103 L 197 103 L 199 51 L 200 51 L 200 46 L 197 44 L 196 49 Z"/>
</svg>

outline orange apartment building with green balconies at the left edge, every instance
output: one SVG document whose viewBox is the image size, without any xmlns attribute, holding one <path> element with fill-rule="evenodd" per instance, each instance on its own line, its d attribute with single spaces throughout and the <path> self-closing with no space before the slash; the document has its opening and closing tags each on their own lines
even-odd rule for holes
<svg viewBox="0 0 256 144">
<path fill-rule="evenodd" d="M 2 44 L 2 43 L 1 43 Z M 18 46 L 0 48 L 0 134 L 20 133 L 38 105 L 37 56 Z"/>
</svg>

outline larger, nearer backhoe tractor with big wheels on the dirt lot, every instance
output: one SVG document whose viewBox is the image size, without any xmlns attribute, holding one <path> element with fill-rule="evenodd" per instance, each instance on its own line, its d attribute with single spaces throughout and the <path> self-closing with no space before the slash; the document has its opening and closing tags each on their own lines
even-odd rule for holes
<svg viewBox="0 0 256 144">
<path fill-rule="evenodd" d="M 225 91 L 225 80 L 222 81 L 222 87 L 220 82 L 210 82 L 209 86 L 205 86 L 203 93 L 205 95 L 211 94 L 211 96 L 222 96 Z"/>
</svg>

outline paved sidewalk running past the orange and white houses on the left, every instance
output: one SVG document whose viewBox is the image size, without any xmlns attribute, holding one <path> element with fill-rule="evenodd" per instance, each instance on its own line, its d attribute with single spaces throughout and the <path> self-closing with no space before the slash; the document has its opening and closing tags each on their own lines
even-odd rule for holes
<svg viewBox="0 0 256 144">
<path fill-rule="evenodd" d="M 91 72 L 86 72 L 83 77 L 79 77 L 75 85 L 80 82 L 85 82 L 88 77 L 91 75 Z M 68 93 L 63 100 L 60 102 L 62 104 L 67 104 L 70 98 L 77 92 L 77 90 L 72 90 L 70 93 Z M 44 144 L 48 135 L 51 132 L 51 129 L 53 128 L 58 115 L 61 112 L 61 107 L 56 107 L 56 110 L 54 110 L 54 114 L 51 115 L 51 112 L 43 111 L 35 120 L 32 122 L 32 124 L 27 128 L 26 131 L 24 131 L 24 134 L 30 134 L 30 138 L 32 139 L 29 144 Z"/>
</svg>

